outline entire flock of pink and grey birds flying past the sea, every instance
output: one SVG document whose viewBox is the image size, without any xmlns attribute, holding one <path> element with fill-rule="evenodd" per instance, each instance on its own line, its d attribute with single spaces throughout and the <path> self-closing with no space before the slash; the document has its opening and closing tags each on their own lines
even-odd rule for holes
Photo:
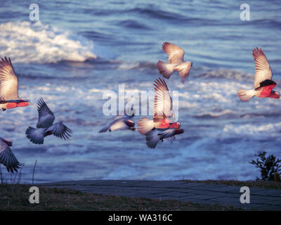
<svg viewBox="0 0 281 225">
<path fill-rule="evenodd" d="M 168 55 L 168 63 L 162 61 L 157 62 L 159 73 L 166 79 L 171 77 L 174 71 L 177 71 L 181 77 L 181 82 L 185 83 L 190 74 L 192 63 L 183 61 L 184 51 L 180 47 L 164 42 L 162 50 Z M 256 96 L 259 98 L 280 98 L 280 94 L 273 91 L 276 83 L 272 80 L 272 71 L 266 55 L 259 48 L 253 50 L 255 63 L 254 89 L 238 90 L 238 96 L 241 101 L 249 101 L 250 98 Z M 18 77 L 15 75 L 15 70 L 10 58 L 1 58 L 0 61 L 0 110 L 3 111 L 25 107 L 30 105 L 30 101 L 18 96 Z M 155 79 L 155 103 L 153 108 L 152 120 L 143 117 L 138 122 L 139 133 L 145 135 L 146 143 L 149 148 L 155 148 L 159 141 L 171 139 L 175 141 L 175 136 L 183 134 L 181 124 L 175 122 L 174 110 L 172 107 L 172 99 L 169 95 L 169 89 L 164 79 Z M 48 108 L 43 98 L 40 98 L 37 103 L 39 119 L 37 128 L 28 127 L 25 134 L 27 139 L 32 143 L 43 144 L 44 137 L 54 135 L 61 139 L 70 139 L 72 130 L 65 126 L 62 122 L 56 122 L 53 112 Z M 126 130 L 135 131 L 135 123 L 132 118 L 134 115 L 117 115 L 112 122 L 108 123 L 100 129 L 100 133 L 106 131 Z M 6 166 L 8 172 L 18 172 L 22 163 L 18 162 L 17 158 L 11 151 L 10 146 L 13 142 L 9 139 L 0 137 L 0 164 Z"/>
</svg>

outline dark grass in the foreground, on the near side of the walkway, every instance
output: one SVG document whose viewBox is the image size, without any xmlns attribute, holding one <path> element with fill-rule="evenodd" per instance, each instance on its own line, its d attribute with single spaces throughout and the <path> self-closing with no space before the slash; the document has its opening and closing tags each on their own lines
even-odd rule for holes
<svg viewBox="0 0 281 225">
<path fill-rule="evenodd" d="M 39 187 L 39 204 L 30 204 L 30 186 L 0 185 L 0 210 L 242 210 L 235 206 L 183 203 L 176 200 L 152 200 L 117 195 L 83 193 L 68 188 Z"/>
</svg>

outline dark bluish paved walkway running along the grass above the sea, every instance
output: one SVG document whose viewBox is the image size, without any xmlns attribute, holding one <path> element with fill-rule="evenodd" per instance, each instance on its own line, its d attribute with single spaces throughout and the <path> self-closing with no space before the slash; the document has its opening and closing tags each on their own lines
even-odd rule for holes
<svg viewBox="0 0 281 225">
<path fill-rule="evenodd" d="M 55 188 L 72 188 L 86 193 L 128 197 L 172 199 L 192 203 L 235 205 L 245 209 L 281 210 L 281 190 L 250 188 L 250 203 L 240 203 L 240 187 L 223 184 L 188 183 L 186 181 L 62 181 L 38 184 Z"/>
</svg>

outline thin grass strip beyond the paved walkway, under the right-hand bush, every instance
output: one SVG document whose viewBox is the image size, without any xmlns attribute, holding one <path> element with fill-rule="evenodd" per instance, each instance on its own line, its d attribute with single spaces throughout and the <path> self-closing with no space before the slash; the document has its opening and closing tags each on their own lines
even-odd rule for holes
<svg viewBox="0 0 281 225">
<path fill-rule="evenodd" d="M 249 188 L 266 188 L 266 189 L 281 189 L 281 182 L 276 181 L 236 181 L 236 180 L 204 180 L 191 181 L 181 180 L 188 183 L 205 183 L 205 184 L 226 184 L 229 186 L 247 186 Z"/>
</svg>

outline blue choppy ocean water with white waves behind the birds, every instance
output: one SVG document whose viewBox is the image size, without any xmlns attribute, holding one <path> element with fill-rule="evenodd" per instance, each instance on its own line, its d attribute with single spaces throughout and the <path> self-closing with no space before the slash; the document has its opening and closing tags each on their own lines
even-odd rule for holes
<svg viewBox="0 0 281 225">
<path fill-rule="evenodd" d="M 11 57 L 19 93 L 31 105 L 0 112 L 0 136 L 13 140 L 22 182 L 78 179 L 239 179 L 259 176 L 249 162 L 266 151 L 280 154 L 280 100 L 252 98 L 259 46 L 281 89 L 281 5 L 248 1 L 250 21 L 240 20 L 243 1 L 42 1 L 40 21 L 29 19 L 30 1 L 1 1 L 0 56 Z M 99 134 L 112 116 L 103 115 L 103 94 L 153 90 L 162 43 L 185 50 L 193 63 L 189 81 L 177 74 L 166 83 L 179 93 L 184 134 L 150 149 L 138 131 Z M 72 139 L 49 136 L 44 146 L 25 137 L 37 124 L 43 97 L 73 130 Z M 141 116 L 136 116 L 137 123 Z M 4 167 L 2 165 L 2 171 Z M 5 179 L 11 176 L 4 173 Z"/>
</svg>

